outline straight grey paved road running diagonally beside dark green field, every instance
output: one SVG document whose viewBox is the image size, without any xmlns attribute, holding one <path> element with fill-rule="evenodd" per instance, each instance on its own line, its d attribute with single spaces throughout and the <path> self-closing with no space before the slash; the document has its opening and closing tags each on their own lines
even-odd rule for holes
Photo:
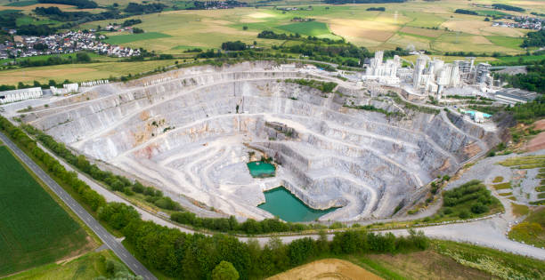
<svg viewBox="0 0 545 280">
<path fill-rule="evenodd" d="M 70 209 L 77 214 L 79 219 L 83 220 L 85 224 L 91 228 L 94 233 L 99 236 L 104 244 L 106 244 L 111 251 L 118 255 L 119 259 L 125 262 L 126 266 L 133 270 L 136 275 L 142 276 L 144 279 L 155 280 L 157 277 L 153 276 L 150 271 L 145 268 L 142 263 L 134 259 L 130 252 L 126 251 L 123 244 L 116 240 L 115 236 L 112 236 L 102 225 L 94 220 L 94 217 L 89 214 L 85 208 L 83 208 L 77 201 L 69 196 L 57 182 L 55 182 L 49 175 L 47 175 L 34 161 L 32 161 L 25 153 L 23 153 L 19 147 L 17 147 L 12 140 L 9 140 L 4 133 L 0 132 L 0 140 L 2 140 L 8 148 L 11 148 L 13 153 L 17 155 L 32 172 L 45 182 L 47 187 L 51 188 L 55 195 L 59 196 L 61 200 L 67 204 Z"/>
</svg>

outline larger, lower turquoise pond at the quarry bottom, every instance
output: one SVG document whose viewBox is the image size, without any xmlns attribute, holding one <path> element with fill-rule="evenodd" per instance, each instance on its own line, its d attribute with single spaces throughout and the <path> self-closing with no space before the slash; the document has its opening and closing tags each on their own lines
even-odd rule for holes
<svg viewBox="0 0 545 280">
<path fill-rule="evenodd" d="M 288 189 L 283 187 L 265 191 L 264 196 L 265 203 L 257 207 L 285 221 L 313 221 L 338 209 L 316 210 L 310 208 L 296 196 L 292 195 Z"/>
</svg>

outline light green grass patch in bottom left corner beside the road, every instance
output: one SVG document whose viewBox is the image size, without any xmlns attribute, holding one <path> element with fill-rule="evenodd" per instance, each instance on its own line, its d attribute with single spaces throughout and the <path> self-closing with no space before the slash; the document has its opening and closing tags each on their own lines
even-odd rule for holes
<svg viewBox="0 0 545 280">
<path fill-rule="evenodd" d="M 99 276 L 109 276 L 106 262 L 116 260 L 124 268 L 118 257 L 110 250 L 88 252 L 85 255 L 66 263 L 50 263 L 32 268 L 20 274 L 7 277 L 6 280 L 38 280 L 38 279 L 95 279 Z"/>
</svg>

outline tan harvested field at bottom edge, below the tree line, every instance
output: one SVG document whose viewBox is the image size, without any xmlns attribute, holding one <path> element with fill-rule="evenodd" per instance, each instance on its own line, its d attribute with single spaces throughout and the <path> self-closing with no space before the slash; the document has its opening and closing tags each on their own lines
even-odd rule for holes
<svg viewBox="0 0 545 280">
<path fill-rule="evenodd" d="M 343 280 L 379 280 L 369 271 L 354 265 L 347 260 L 316 260 L 303 266 L 289 269 L 286 272 L 267 278 L 268 280 L 311 280 L 311 279 L 343 279 Z"/>
</svg>

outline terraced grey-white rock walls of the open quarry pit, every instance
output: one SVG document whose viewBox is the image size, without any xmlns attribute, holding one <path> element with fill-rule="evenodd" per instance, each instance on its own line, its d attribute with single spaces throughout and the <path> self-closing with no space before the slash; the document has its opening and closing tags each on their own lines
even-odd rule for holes
<svg viewBox="0 0 545 280">
<path fill-rule="evenodd" d="M 280 185 L 313 208 L 343 206 L 322 220 L 386 217 L 487 148 L 471 124 L 443 113 L 400 119 L 346 108 L 350 96 L 398 110 L 340 81 L 339 94 L 283 81 L 297 77 L 331 79 L 267 62 L 186 68 L 97 86 L 89 100 L 52 103 L 26 121 L 159 188 L 255 219 L 272 217 L 256 205 Z M 277 176 L 252 178 L 250 152 L 272 156 Z"/>
</svg>

